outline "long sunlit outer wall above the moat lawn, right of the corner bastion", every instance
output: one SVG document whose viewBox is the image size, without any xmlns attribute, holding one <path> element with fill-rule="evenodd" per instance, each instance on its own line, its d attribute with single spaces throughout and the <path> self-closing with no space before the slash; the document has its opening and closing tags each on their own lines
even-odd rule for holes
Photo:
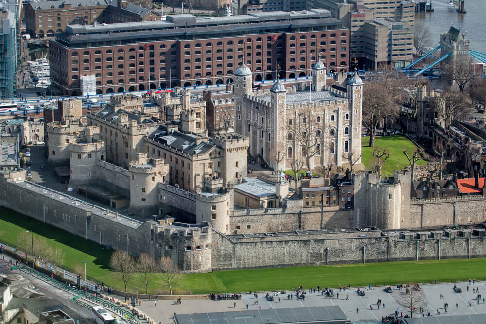
<svg viewBox="0 0 486 324">
<path fill-rule="evenodd" d="M 213 233 L 212 269 L 242 269 L 280 266 L 329 265 L 486 256 L 484 236 L 471 236 L 466 230 L 422 232 L 418 237 L 391 234 L 368 237 L 366 232 L 347 233 L 346 238 L 326 234 L 289 233 L 288 236 L 261 235 L 234 238 Z M 457 233 L 456 233 L 457 232 Z M 483 233 L 484 235 L 484 233 Z"/>
</svg>

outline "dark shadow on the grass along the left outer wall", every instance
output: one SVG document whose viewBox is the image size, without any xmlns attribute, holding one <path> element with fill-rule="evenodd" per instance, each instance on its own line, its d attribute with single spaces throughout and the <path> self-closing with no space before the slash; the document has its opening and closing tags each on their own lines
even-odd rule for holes
<svg viewBox="0 0 486 324">
<path fill-rule="evenodd" d="M 93 264 L 100 266 L 101 269 L 109 269 L 111 251 L 99 244 L 75 236 L 52 225 L 44 224 L 8 208 L 0 208 L 0 219 L 25 228 L 26 230 L 33 231 L 35 234 L 43 236 L 46 239 L 52 239 L 58 243 L 93 256 L 95 258 Z"/>
</svg>

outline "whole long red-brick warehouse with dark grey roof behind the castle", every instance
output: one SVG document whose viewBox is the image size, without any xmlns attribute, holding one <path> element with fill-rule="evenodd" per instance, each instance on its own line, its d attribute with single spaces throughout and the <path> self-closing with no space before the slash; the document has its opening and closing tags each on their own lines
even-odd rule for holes
<svg viewBox="0 0 486 324">
<path fill-rule="evenodd" d="M 316 51 L 329 72 L 348 70 L 349 30 L 324 9 L 232 17 L 168 16 L 166 21 L 72 25 L 50 42 L 51 84 L 97 93 L 226 84 L 245 55 L 256 81 L 309 75 Z M 305 71 L 307 69 L 307 71 Z"/>
</svg>

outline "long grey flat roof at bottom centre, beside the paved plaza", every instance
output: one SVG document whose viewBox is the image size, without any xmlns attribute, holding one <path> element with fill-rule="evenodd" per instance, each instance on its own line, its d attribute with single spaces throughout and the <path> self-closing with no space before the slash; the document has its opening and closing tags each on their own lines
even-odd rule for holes
<svg viewBox="0 0 486 324">
<path fill-rule="evenodd" d="M 351 323 L 339 306 L 277 308 L 174 315 L 176 324 Z"/>
</svg>

